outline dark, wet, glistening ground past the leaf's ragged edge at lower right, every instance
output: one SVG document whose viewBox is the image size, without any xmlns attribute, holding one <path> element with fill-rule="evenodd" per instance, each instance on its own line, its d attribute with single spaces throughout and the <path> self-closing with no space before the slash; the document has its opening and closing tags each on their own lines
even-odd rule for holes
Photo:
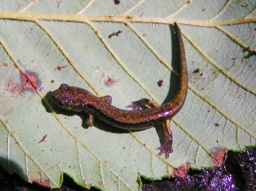
<svg viewBox="0 0 256 191">
<path fill-rule="evenodd" d="M 252 191 L 256 190 L 256 148 L 245 152 L 227 152 L 224 167 L 189 170 L 185 179 L 170 178 L 161 181 L 143 180 L 142 191 L 198 190 L 198 191 Z"/>
</svg>

